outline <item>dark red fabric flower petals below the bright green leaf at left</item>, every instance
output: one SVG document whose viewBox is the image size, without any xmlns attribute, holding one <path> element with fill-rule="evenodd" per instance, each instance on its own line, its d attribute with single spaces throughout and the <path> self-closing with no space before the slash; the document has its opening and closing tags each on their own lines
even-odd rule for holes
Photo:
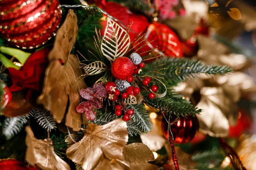
<svg viewBox="0 0 256 170">
<path fill-rule="evenodd" d="M 15 92 L 27 89 L 26 100 L 30 98 L 34 90 L 41 91 L 48 53 L 49 48 L 36 51 L 29 56 L 20 70 L 9 68 L 9 74 L 12 78 L 12 86 L 9 90 Z"/>
</svg>

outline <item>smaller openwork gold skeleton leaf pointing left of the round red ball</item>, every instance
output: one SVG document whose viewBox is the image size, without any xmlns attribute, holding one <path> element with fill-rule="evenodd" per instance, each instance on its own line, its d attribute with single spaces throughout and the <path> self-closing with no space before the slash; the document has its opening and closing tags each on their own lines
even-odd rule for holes
<svg viewBox="0 0 256 170">
<path fill-rule="evenodd" d="M 83 68 L 84 68 L 83 76 L 96 75 L 96 74 L 100 74 L 107 71 L 107 66 L 101 61 L 92 62 L 88 65 L 85 65 Z"/>
</svg>

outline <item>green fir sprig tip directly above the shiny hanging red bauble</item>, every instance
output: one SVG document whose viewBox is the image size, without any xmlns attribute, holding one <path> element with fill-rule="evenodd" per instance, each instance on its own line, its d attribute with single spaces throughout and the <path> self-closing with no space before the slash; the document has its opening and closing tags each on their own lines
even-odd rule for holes
<svg viewBox="0 0 256 170">
<path fill-rule="evenodd" d="M 170 113 L 175 116 L 184 116 L 199 114 L 202 110 L 196 108 L 194 105 L 191 105 L 186 102 L 175 101 L 172 98 L 146 98 L 145 103 L 154 108 L 160 109 L 160 111 Z"/>
</svg>

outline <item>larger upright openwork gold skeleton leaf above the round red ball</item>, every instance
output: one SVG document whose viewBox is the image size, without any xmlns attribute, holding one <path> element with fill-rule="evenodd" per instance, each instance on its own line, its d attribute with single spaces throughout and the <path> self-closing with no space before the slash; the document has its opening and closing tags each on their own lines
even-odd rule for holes
<svg viewBox="0 0 256 170">
<path fill-rule="evenodd" d="M 131 40 L 127 31 L 108 17 L 100 46 L 102 54 L 112 62 L 117 57 L 123 56 L 130 44 Z"/>
</svg>

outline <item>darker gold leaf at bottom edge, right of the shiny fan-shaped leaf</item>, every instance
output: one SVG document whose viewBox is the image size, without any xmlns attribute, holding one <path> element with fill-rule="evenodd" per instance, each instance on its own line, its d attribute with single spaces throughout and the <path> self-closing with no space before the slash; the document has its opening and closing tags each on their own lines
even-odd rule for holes
<svg viewBox="0 0 256 170">
<path fill-rule="evenodd" d="M 104 157 L 94 170 L 158 170 L 156 165 L 148 163 L 154 160 L 154 155 L 145 144 L 128 144 L 122 155 L 118 159 Z"/>
</svg>

